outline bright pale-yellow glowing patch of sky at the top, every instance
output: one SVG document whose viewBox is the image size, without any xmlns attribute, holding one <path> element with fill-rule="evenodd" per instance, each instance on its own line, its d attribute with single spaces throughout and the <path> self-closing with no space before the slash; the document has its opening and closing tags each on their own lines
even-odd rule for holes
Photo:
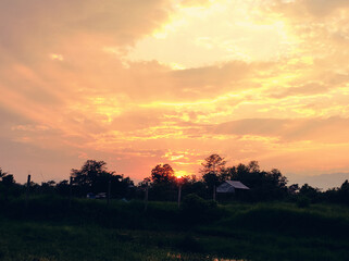
<svg viewBox="0 0 349 261">
<path fill-rule="evenodd" d="M 174 4 L 165 24 L 136 42 L 125 59 L 157 60 L 182 69 L 229 60 L 276 60 L 295 52 L 295 40 L 282 17 L 261 18 L 264 13 L 252 1 L 188 3 Z"/>
</svg>

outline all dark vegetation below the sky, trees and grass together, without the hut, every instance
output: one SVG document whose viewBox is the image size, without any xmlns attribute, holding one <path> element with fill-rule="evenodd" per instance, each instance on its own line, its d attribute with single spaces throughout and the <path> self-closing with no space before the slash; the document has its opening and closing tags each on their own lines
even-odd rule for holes
<svg viewBox="0 0 349 261">
<path fill-rule="evenodd" d="M 226 166 L 217 154 L 201 174 L 178 179 L 159 164 L 135 186 L 89 160 L 70 181 L 21 185 L 0 169 L 0 260 L 347 260 L 348 181 L 287 186 L 276 169 Z M 212 200 L 230 179 L 250 190 Z M 86 199 L 101 192 L 108 199 Z"/>
</svg>

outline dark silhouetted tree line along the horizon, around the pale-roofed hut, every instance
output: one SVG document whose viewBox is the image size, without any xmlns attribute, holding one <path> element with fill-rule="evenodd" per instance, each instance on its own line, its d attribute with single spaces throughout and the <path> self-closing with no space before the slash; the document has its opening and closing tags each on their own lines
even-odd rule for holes
<svg viewBox="0 0 349 261">
<path fill-rule="evenodd" d="M 250 188 L 234 195 L 219 195 L 217 200 L 267 201 L 294 200 L 300 207 L 312 202 L 335 202 L 349 204 L 349 183 L 321 191 L 308 184 L 288 185 L 287 177 L 279 170 L 261 170 L 257 161 L 227 166 L 224 158 L 211 154 L 205 158 L 197 176 L 177 178 L 170 164 L 158 164 L 142 182 L 135 185 L 129 177 L 109 171 L 104 161 L 87 160 L 79 170 L 72 169 L 70 179 L 27 185 L 17 184 L 14 175 L 0 169 L 0 201 L 18 197 L 27 189 L 32 194 L 58 194 L 61 196 L 86 197 L 87 194 L 109 192 L 114 199 L 141 199 L 145 191 L 149 200 L 175 201 L 178 188 L 183 195 L 195 194 L 203 199 L 215 199 L 215 189 L 225 181 L 239 181 Z"/>
</svg>

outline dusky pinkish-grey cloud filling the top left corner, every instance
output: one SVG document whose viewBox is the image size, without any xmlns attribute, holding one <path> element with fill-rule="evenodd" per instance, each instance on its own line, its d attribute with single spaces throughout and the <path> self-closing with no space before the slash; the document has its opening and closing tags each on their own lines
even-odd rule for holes
<svg viewBox="0 0 349 261">
<path fill-rule="evenodd" d="M 151 33 L 167 18 L 170 2 L 97 0 L 2 1 L 0 11 L 2 45 L 23 47 L 40 42 L 54 45 L 62 35 L 101 36 L 109 34 L 116 42 L 132 42 Z"/>
</svg>

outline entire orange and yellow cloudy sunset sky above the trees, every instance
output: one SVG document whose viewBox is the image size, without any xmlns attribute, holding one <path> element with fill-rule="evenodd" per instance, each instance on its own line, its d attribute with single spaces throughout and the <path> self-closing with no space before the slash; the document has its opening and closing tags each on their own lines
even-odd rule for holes
<svg viewBox="0 0 349 261">
<path fill-rule="evenodd" d="M 348 61 L 348 0 L 1 0 L 0 167 L 349 173 Z"/>
</svg>

